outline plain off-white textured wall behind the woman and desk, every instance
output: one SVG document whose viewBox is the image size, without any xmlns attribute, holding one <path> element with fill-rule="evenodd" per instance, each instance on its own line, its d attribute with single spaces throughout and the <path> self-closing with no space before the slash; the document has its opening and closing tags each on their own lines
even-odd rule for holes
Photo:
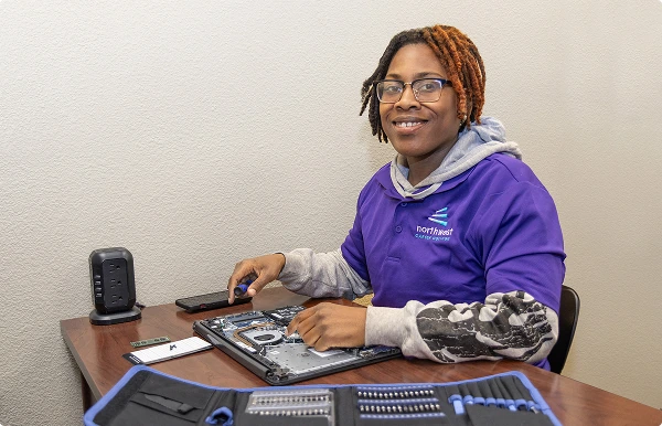
<svg viewBox="0 0 662 426">
<path fill-rule="evenodd" d="M 0 423 L 79 422 L 58 321 L 92 309 L 93 249 L 129 248 L 157 305 L 338 247 L 392 157 L 361 84 L 437 22 L 476 42 L 485 114 L 557 202 L 583 302 L 564 373 L 662 407 L 660 0 L 0 0 Z"/>
</svg>

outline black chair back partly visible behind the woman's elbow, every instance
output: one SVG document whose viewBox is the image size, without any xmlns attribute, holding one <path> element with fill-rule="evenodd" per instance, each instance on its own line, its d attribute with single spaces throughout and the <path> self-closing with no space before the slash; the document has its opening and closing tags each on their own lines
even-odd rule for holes
<svg viewBox="0 0 662 426">
<path fill-rule="evenodd" d="M 577 319 L 579 318 L 579 295 L 570 287 L 563 286 L 560 289 L 560 309 L 558 310 L 558 340 L 547 356 L 549 368 L 554 373 L 560 374 L 565 365 Z"/>
</svg>

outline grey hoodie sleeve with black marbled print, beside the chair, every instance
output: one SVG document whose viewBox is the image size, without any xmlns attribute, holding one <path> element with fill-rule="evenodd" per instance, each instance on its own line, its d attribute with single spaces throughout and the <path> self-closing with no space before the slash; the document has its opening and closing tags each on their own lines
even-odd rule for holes
<svg viewBox="0 0 662 426">
<path fill-rule="evenodd" d="M 398 347 L 406 356 L 442 363 L 501 358 L 537 363 L 557 337 L 556 312 L 524 291 L 492 294 L 484 303 L 369 307 L 365 324 L 366 344 Z"/>
</svg>

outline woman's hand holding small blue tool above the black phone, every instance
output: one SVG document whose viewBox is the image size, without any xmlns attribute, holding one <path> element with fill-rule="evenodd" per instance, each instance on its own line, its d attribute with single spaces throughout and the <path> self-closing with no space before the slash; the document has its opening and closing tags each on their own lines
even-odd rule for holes
<svg viewBox="0 0 662 426">
<path fill-rule="evenodd" d="M 229 303 L 234 303 L 234 289 L 237 285 L 253 279 L 250 286 L 246 290 L 246 296 L 254 297 L 265 286 L 276 279 L 285 266 L 285 255 L 276 253 L 244 259 L 235 265 L 235 269 L 227 280 L 227 290 Z"/>
</svg>

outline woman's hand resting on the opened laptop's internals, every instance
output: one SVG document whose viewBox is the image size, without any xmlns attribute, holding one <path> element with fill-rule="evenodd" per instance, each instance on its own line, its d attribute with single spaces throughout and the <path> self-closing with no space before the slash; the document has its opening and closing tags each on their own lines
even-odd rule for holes
<svg viewBox="0 0 662 426">
<path fill-rule="evenodd" d="M 322 302 L 297 313 L 287 327 L 287 334 L 299 332 L 303 342 L 317 351 L 362 347 L 366 312 L 363 307 Z"/>
</svg>

